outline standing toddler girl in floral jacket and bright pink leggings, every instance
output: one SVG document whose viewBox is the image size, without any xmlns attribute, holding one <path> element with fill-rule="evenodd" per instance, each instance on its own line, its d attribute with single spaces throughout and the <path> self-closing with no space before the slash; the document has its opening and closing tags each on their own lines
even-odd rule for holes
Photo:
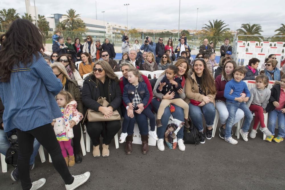
<svg viewBox="0 0 285 190">
<path fill-rule="evenodd" d="M 71 146 L 71 140 L 74 136 L 72 128 L 79 123 L 80 113 L 76 109 L 76 101 L 67 91 L 60 91 L 56 95 L 56 102 L 61 109 L 62 117 L 54 119 L 52 126 L 54 126 L 54 132 L 67 166 L 74 166 L 75 159 Z M 69 156 L 67 156 L 66 151 Z"/>
</svg>

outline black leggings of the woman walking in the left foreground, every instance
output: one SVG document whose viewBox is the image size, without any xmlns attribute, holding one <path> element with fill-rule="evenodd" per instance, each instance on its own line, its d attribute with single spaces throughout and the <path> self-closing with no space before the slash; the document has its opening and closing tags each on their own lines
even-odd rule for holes
<svg viewBox="0 0 285 190">
<path fill-rule="evenodd" d="M 40 142 L 40 144 L 48 151 L 54 168 L 61 175 L 65 184 L 73 183 L 74 178 L 68 170 L 61 153 L 60 145 L 50 123 L 28 131 L 17 129 L 17 137 L 19 143 L 17 167 L 19 170 L 21 185 L 24 190 L 32 187 L 29 168 L 30 157 L 33 152 L 34 138 L 36 138 L 36 140 L 38 140 L 38 142 Z"/>
</svg>

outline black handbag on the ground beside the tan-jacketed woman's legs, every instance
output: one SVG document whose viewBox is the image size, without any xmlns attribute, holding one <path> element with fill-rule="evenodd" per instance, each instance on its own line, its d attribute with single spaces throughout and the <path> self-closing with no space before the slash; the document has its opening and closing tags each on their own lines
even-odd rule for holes
<svg viewBox="0 0 285 190">
<path fill-rule="evenodd" d="M 184 130 L 183 130 L 183 140 L 184 140 L 184 144 L 199 144 L 199 132 L 196 129 L 196 127 L 194 127 L 194 124 L 189 121 L 190 124 L 190 128 L 186 128 L 184 126 Z"/>
</svg>

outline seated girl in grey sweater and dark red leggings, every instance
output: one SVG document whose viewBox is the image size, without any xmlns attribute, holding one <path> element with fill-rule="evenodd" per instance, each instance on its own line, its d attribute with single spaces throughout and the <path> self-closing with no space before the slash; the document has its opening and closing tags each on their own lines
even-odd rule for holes
<svg viewBox="0 0 285 190">
<path fill-rule="evenodd" d="M 270 98 L 271 91 L 267 88 L 269 79 L 265 75 L 258 75 L 255 78 L 256 86 L 250 89 L 250 98 L 246 103 L 250 111 L 254 111 L 255 118 L 253 128 L 249 136 L 255 138 L 257 134 L 257 125 L 260 123 L 259 130 L 265 135 L 272 135 L 268 128 L 264 124 L 264 115 L 266 113 L 265 108 L 267 106 L 268 100 Z"/>
</svg>

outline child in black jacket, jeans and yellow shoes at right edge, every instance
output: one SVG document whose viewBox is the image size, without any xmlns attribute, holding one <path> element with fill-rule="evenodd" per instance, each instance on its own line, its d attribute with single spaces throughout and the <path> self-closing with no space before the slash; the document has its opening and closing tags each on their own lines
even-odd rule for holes
<svg viewBox="0 0 285 190">
<path fill-rule="evenodd" d="M 271 88 L 269 102 L 266 107 L 268 112 L 268 129 L 272 135 L 268 136 L 265 140 L 267 142 L 282 142 L 285 137 L 285 74 L 281 76 L 280 84 L 276 82 Z M 278 118 L 278 135 L 274 138 L 275 125 Z"/>
</svg>

